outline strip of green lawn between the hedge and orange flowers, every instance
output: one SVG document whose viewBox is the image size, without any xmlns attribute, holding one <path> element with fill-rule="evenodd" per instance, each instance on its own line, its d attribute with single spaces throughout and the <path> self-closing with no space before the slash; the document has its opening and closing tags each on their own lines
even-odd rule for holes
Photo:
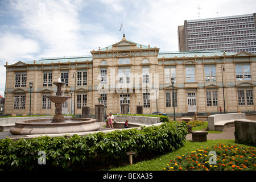
<svg viewBox="0 0 256 182">
<path fill-rule="evenodd" d="M 210 147 L 213 145 L 217 145 L 218 143 L 224 144 L 237 144 L 234 140 L 207 140 L 207 142 L 192 142 L 187 140 L 184 147 L 181 147 L 179 150 L 174 152 L 170 152 L 166 155 L 158 156 L 151 160 L 146 160 L 142 162 L 135 163 L 133 165 L 127 164 L 126 166 L 121 166 L 117 168 L 108 169 L 110 171 L 162 171 L 166 164 L 170 162 L 170 160 L 174 160 L 176 156 L 185 155 L 191 151 L 195 151 L 201 147 Z M 237 144 L 238 146 L 249 147 L 243 144 Z M 127 157 L 127 161 L 129 158 Z"/>
</svg>

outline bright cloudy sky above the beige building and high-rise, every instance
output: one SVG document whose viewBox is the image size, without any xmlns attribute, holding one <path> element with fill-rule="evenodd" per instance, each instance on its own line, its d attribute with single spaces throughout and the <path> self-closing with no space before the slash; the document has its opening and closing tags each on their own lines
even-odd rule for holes
<svg viewBox="0 0 256 182">
<path fill-rule="evenodd" d="M 160 52 L 178 51 L 184 20 L 252 13 L 255 0 L 0 0 L 0 95 L 6 62 L 90 55 L 121 41 L 123 32 Z"/>
</svg>

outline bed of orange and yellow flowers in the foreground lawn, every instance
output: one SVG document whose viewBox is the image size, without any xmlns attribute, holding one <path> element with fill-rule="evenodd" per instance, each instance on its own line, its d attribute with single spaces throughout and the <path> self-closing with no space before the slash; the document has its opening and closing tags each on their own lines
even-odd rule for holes
<svg viewBox="0 0 256 182">
<path fill-rule="evenodd" d="M 209 152 L 216 152 L 216 160 Z M 212 152 L 210 152 L 212 153 Z M 163 170 L 167 171 L 256 171 L 256 150 L 221 144 L 176 156 Z"/>
</svg>

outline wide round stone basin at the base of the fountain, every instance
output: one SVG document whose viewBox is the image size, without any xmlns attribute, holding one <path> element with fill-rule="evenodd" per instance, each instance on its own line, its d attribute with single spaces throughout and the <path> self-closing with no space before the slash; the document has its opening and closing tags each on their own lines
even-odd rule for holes
<svg viewBox="0 0 256 182">
<path fill-rule="evenodd" d="M 13 135 L 65 134 L 97 131 L 100 129 L 96 119 L 71 118 L 68 120 L 71 120 L 71 122 L 45 123 L 49 119 L 19 121 L 15 122 L 14 127 L 11 127 L 10 133 Z"/>
</svg>

